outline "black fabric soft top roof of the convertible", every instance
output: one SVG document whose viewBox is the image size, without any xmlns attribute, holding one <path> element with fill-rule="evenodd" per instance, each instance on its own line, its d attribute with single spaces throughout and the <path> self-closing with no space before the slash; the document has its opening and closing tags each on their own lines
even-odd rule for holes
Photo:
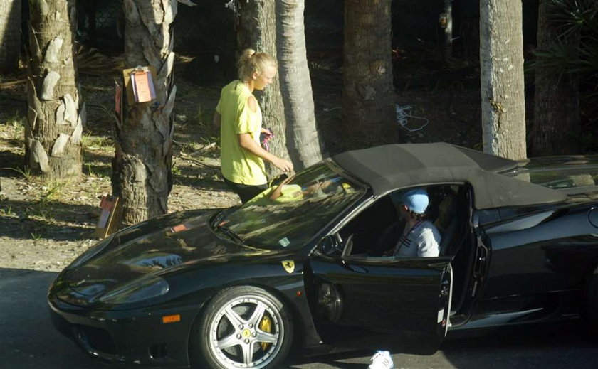
<svg viewBox="0 0 598 369">
<path fill-rule="evenodd" d="M 483 152 L 435 144 L 392 144 L 346 151 L 332 159 L 382 196 L 399 188 L 434 183 L 468 182 L 478 209 L 557 203 L 560 191 L 502 174 L 517 168 L 516 161 Z"/>
</svg>

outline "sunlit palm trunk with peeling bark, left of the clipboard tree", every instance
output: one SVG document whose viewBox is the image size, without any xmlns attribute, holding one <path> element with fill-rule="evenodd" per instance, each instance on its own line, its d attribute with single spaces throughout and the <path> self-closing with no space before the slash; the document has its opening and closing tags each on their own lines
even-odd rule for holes
<svg viewBox="0 0 598 369">
<path fill-rule="evenodd" d="M 80 108 L 73 58 L 75 0 L 31 1 L 26 160 L 47 180 L 81 175 Z"/>
</svg>

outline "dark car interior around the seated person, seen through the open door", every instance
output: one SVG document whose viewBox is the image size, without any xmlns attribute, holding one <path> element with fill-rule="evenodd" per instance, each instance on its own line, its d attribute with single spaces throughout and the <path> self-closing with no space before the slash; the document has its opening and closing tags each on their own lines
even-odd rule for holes
<svg viewBox="0 0 598 369">
<path fill-rule="evenodd" d="M 453 286 L 463 286 L 453 289 L 451 296 L 451 319 L 458 321 L 458 316 L 468 295 L 468 279 L 475 256 L 475 242 L 471 233 L 471 187 L 463 185 L 436 185 L 424 187 L 429 204 L 426 216 L 438 229 L 441 240 L 439 242 L 438 257 L 451 257 L 453 267 Z M 411 190 L 407 188 L 397 192 L 395 196 L 389 194 L 379 198 L 375 203 L 363 210 L 350 220 L 337 236 L 342 242 L 342 258 L 352 267 L 363 268 L 368 265 L 388 265 L 400 267 L 404 263 L 419 262 L 422 258 L 384 256 L 384 253 L 396 247 L 398 238 L 402 235 L 404 225 L 400 222 L 397 198 L 401 193 Z M 393 200 L 394 198 L 394 200 Z M 390 264 L 388 264 L 390 263 Z"/>
</svg>

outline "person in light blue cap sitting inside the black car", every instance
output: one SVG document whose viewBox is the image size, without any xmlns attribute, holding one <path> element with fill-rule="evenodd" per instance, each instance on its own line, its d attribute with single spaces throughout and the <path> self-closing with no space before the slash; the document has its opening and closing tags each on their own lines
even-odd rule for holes
<svg viewBox="0 0 598 369">
<path fill-rule="evenodd" d="M 406 193 L 392 193 L 391 198 L 405 221 L 401 237 L 385 255 L 396 257 L 437 257 L 440 252 L 441 235 L 436 226 L 426 219 L 429 205 L 424 188 Z"/>
</svg>

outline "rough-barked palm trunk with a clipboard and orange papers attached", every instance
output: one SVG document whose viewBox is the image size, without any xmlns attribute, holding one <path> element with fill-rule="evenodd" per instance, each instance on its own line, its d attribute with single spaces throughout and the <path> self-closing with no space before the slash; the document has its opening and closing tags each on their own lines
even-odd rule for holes
<svg viewBox="0 0 598 369">
<path fill-rule="evenodd" d="M 115 127 L 112 191 L 122 200 L 122 222 L 139 223 L 167 212 L 172 188 L 172 79 L 175 0 L 125 0 L 125 65 L 152 66 L 156 99 L 123 104 L 123 123 Z M 123 94 L 126 96 L 126 94 Z"/>
</svg>

